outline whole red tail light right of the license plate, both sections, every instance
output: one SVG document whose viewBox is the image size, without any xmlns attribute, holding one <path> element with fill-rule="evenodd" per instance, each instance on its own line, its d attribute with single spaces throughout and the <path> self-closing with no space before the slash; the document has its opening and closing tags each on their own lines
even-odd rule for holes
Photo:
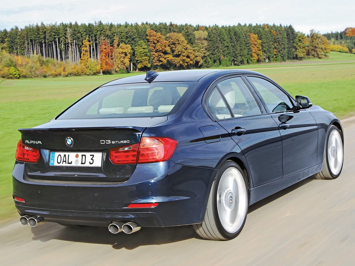
<svg viewBox="0 0 355 266">
<path fill-rule="evenodd" d="M 166 137 L 142 137 L 141 143 L 110 149 L 113 164 L 164 162 L 171 158 L 178 142 Z"/>
</svg>

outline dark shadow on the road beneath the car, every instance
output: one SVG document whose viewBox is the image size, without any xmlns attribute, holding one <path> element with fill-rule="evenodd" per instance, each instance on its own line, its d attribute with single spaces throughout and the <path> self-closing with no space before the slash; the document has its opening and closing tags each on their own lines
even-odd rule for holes
<svg viewBox="0 0 355 266">
<path fill-rule="evenodd" d="M 260 207 L 271 203 L 273 200 L 286 195 L 287 193 L 301 187 L 312 181 L 313 177 L 308 177 L 288 188 L 285 188 L 265 199 L 252 204 L 249 211 L 253 212 Z M 119 234 L 112 234 L 107 227 L 88 226 L 83 228 L 70 228 L 58 225 L 56 223 L 47 222 L 44 225 L 31 228 L 33 233 L 33 240 L 47 242 L 52 239 L 58 239 L 69 242 L 82 242 L 92 244 L 111 245 L 114 249 L 135 249 L 144 245 L 162 245 L 168 243 L 179 242 L 191 238 L 200 238 L 195 233 L 192 226 L 174 226 L 174 227 L 149 227 L 142 228 L 138 233 L 131 235 L 123 232 Z"/>
</svg>

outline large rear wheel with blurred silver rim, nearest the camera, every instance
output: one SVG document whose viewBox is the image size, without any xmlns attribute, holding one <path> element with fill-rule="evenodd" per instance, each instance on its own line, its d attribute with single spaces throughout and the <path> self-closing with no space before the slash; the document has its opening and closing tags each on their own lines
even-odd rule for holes
<svg viewBox="0 0 355 266">
<path fill-rule="evenodd" d="M 224 162 L 213 181 L 204 220 L 193 225 L 196 233 L 212 240 L 235 238 L 245 224 L 249 205 L 248 188 L 248 179 L 240 166 L 234 161 Z"/>
</svg>

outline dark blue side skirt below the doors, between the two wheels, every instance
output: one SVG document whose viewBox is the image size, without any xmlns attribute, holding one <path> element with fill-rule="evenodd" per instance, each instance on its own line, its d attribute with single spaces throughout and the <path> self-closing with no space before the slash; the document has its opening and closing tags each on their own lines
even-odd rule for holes
<svg viewBox="0 0 355 266">
<path fill-rule="evenodd" d="M 320 172 L 322 167 L 323 162 L 279 180 L 251 188 L 249 190 L 249 205 Z"/>
</svg>

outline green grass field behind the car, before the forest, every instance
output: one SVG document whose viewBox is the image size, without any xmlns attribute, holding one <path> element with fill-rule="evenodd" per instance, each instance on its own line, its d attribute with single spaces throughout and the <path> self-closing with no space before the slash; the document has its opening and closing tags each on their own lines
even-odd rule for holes
<svg viewBox="0 0 355 266">
<path fill-rule="evenodd" d="M 306 95 L 313 104 L 334 112 L 339 118 L 355 115 L 355 54 L 331 52 L 327 59 L 233 68 L 257 69 L 293 96 Z M 95 87 L 135 74 L 141 73 L 0 82 L 0 224 L 17 215 L 11 197 L 11 171 L 16 144 L 20 139 L 17 129 L 47 122 Z"/>
</svg>

